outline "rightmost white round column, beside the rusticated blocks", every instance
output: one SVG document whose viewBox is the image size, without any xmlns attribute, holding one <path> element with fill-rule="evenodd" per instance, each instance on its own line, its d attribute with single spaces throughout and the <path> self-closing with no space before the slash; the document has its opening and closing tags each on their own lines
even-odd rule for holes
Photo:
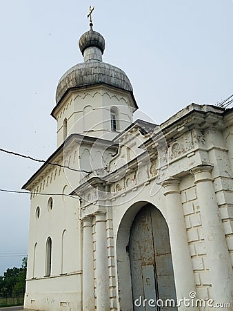
<svg viewBox="0 0 233 311">
<path fill-rule="evenodd" d="M 212 276 L 212 299 L 216 302 L 232 301 L 232 266 L 225 241 L 221 214 L 212 182 L 212 166 L 203 165 L 191 170 L 201 211 L 207 261 Z M 230 309 L 226 309 L 230 310 Z"/>
</svg>

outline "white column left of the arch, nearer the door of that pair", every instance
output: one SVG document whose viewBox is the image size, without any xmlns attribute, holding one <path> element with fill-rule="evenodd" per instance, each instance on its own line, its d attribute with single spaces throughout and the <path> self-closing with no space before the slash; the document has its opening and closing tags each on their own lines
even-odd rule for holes
<svg viewBox="0 0 233 311">
<path fill-rule="evenodd" d="M 97 311 L 110 310 L 105 213 L 96 214 Z"/>
</svg>

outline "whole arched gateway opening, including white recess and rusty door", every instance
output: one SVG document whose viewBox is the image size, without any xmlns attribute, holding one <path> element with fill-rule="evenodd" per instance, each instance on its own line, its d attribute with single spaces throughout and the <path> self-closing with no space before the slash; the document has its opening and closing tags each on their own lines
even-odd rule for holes
<svg viewBox="0 0 233 311">
<path fill-rule="evenodd" d="M 136 241 L 136 236 L 141 236 L 139 241 Z M 150 252 L 148 261 L 143 255 L 144 248 L 145 254 Z M 139 256 L 136 249 L 141 249 Z M 138 278 L 136 269 L 139 270 Z M 154 286 L 151 279 L 152 272 Z M 149 276 L 146 276 L 147 273 Z M 135 202 L 121 219 L 117 232 L 117 281 L 120 310 L 156 310 L 154 306 L 150 308 L 148 304 L 144 307 L 135 305 L 134 301 L 140 296 L 142 301 L 143 299 L 176 301 L 168 225 L 161 211 L 149 202 Z M 144 289 L 143 282 L 145 285 L 148 284 L 149 288 L 145 286 Z M 162 307 L 158 310 L 168 309 L 177 310 Z"/>
</svg>

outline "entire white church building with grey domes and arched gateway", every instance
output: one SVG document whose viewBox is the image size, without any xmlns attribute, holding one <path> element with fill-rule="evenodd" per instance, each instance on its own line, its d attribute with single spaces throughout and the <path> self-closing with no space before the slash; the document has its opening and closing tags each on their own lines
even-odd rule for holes
<svg viewBox="0 0 233 311">
<path fill-rule="evenodd" d="M 24 310 L 233 310 L 233 110 L 133 122 L 102 35 L 91 27 L 79 47 L 51 113 L 57 150 L 23 186 Z"/>
</svg>

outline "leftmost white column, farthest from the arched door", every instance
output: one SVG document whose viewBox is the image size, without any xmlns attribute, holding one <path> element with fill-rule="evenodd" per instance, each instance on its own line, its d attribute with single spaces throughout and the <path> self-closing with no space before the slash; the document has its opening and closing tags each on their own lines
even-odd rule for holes
<svg viewBox="0 0 233 311">
<path fill-rule="evenodd" d="M 83 219 L 83 310 L 94 311 L 92 218 Z"/>
</svg>

